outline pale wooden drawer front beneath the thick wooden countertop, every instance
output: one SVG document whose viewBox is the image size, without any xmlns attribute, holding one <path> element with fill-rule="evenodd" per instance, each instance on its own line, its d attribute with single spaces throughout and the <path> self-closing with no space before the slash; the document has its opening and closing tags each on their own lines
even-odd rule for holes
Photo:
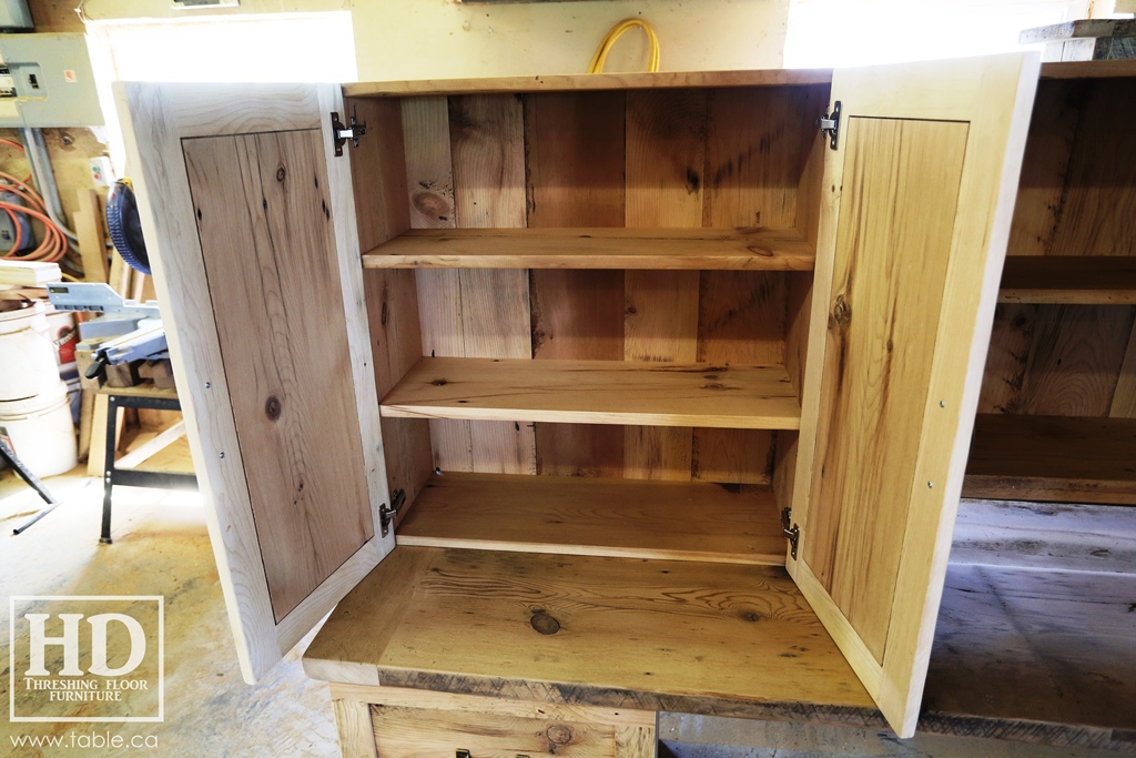
<svg viewBox="0 0 1136 758">
<path fill-rule="evenodd" d="M 333 685 L 344 758 L 653 758 L 650 711 Z"/>
</svg>

